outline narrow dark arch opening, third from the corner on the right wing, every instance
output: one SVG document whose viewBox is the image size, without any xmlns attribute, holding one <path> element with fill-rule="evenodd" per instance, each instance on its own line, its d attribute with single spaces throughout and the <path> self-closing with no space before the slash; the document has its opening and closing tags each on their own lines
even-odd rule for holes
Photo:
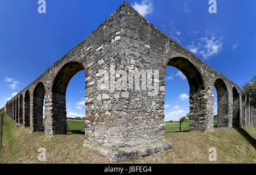
<svg viewBox="0 0 256 175">
<path fill-rule="evenodd" d="M 240 95 L 236 89 L 233 87 L 233 126 L 240 127 Z"/>
</svg>

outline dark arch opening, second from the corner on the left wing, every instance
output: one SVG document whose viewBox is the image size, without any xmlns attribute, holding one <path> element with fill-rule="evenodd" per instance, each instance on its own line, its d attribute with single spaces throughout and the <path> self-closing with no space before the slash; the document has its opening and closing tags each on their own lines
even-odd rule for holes
<svg viewBox="0 0 256 175">
<path fill-rule="evenodd" d="M 39 82 L 33 93 L 32 128 L 34 132 L 43 130 L 44 84 Z"/>
</svg>

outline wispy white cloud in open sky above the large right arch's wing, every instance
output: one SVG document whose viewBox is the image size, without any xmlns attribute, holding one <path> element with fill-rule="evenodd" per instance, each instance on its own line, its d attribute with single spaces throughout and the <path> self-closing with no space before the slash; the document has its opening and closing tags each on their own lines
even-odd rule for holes
<svg viewBox="0 0 256 175">
<path fill-rule="evenodd" d="M 209 31 L 206 31 L 205 33 L 207 36 L 197 39 L 196 44 L 194 41 L 192 41 L 191 45 L 187 46 L 189 51 L 194 54 L 203 56 L 204 60 L 208 59 L 208 57 L 220 53 L 223 47 L 222 36 L 208 36 L 210 34 Z"/>
</svg>

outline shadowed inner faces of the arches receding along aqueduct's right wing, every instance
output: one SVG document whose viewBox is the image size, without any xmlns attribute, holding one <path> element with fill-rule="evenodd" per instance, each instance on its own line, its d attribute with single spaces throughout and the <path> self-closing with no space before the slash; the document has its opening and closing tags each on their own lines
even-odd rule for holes
<svg viewBox="0 0 256 175">
<path fill-rule="evenodd" d="M 202 94 L 201 90 L 205 89 L 203 76 L 201 76 L 201 72 L 191 61 L 181 57 L 170 59 L 167 66 L 174 66 L 187 77 L 190 89 L 190 127 L 192 130 L 198 128 L 196 124 L 198 124 L 200 118 L 204 119 L 200 116 L 200 110 L 206 110 L 200 105 L 201 101 L 199 100 L 199 95 Z M 229 92 L 228 86 L 222 78 L 217 78 L 212 86 L 213 89 L 215 87 L 217 91 L 217 127 L 253 126 L 254 106 L 252 102 L 250 102 L 249 97 L 245 97 L 243 93 L 240 94 L 236 87 L 232 87 L 232 90 Z M 232 97 L 229 97 L 229 95 Z M 213 101 L 213 99 L 211 101 Z M 211 104 L 213 105 L 213 103 Z M 230 114 L 230 111 L 233 111 L 233 114 Z M 213 120 L 209 121 L 209 123 L 213 124 Z"/>
</svg>

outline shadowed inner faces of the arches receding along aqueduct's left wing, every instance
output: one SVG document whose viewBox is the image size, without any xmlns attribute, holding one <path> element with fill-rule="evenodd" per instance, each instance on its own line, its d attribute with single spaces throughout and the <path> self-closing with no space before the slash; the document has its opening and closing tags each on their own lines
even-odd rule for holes
<svg viewBox="0 0 256 175">
<path fill-rule="evenodd" d="M 84 70 L 84 66 L 78 62 L 65 64 L 57 73 L 52 85 L 52 105 L 55 108 L 51 111 L 54 134 L 67 134 L 67 111 L 66 91 L 69 81 L 76 73 Z M 7 110 L 11 119 L 16 123 L 24 124 L 24 127 L 31 127 L 34 132 L 43 131 L 43 113 L 46 86 L 38 82 L 32 92 L 20 94 L 12 101 L 7 102 Z M 47 115 L 45 115 L 47 120 Z"/>
</svg>

